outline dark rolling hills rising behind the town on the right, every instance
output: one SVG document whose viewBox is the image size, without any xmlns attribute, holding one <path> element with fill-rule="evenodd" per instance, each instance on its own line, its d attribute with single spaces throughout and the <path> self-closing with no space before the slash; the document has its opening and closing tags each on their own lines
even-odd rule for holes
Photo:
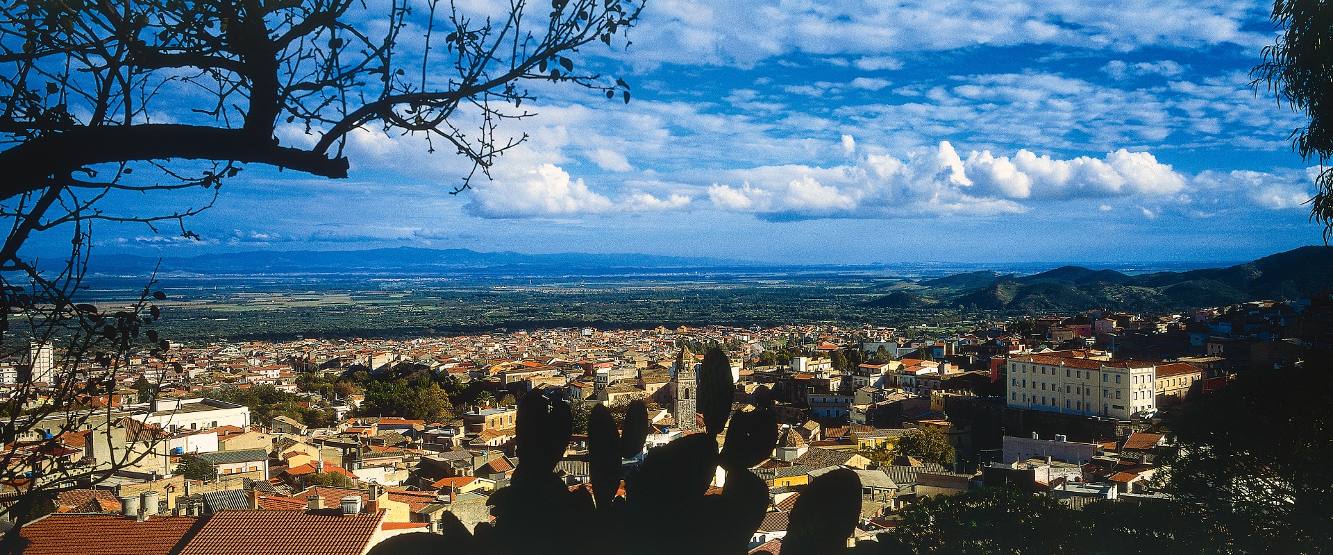
<svg viewBox="0 0 1333 555">
<path fill-rule="evenodd" d="M 1128 276 L 1116 270 L 1061 266 L 1022 277 L 970 272 L 921 285 L 942 290 L 925 290 L 920 299 L 882 297 L 866 305 L 920 306 L 934 299 L 949 306 L 982 310 L 1076 311 L 1108 307 L 1148 311 L 1293 299 L 1333 289 L 1333 246 L 1302 246 L 1236 266 L 1190 272 Z"/>
</svg>

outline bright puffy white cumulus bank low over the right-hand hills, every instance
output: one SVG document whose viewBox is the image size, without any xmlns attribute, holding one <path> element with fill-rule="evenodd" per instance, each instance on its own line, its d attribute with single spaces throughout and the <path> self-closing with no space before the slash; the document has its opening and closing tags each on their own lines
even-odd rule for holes
<svg viewBox="0 0 1333 555">
<path fill-rule="evenodd" d="M 854 165 L 765 166 L 732 174 L 741 185 L 708 188 L 713 206 L 769 218 L 986 216 L 1021 213 L 1038 200 L 1169 200 L 1188 186 L 1185 176 L 1146 152 L 1060 160 L 1029 150 L 1012 157 L 973 150 L 962 157 L 948 141 L 905 157 L 866 154 Z"/>
</svg>

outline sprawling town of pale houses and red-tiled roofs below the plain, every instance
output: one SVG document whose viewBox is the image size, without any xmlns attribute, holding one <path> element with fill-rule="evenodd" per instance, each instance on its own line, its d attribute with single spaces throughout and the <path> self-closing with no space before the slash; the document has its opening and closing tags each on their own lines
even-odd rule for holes
<svg viewBox="0 0 1333 555">
<path fill-rule="evenodd" d="M 916 503 L 984 486 L 1014 484 L 1068 510 L 1164 498 L 1156 476 L 1174 455 L 1178 410 L 1237 375 L 1300 367 L 1328 349 L 1330 326 L 1333 291 L 1322 291 L 970 329 L 563 327 L 173 345 L 128 357 L 112 386 L 73 398 L 53 397 L 71 375 L 51 345 L 35 343 L 0 361 L 5 394 L 27 395 L 41 415 L 8 430 L 0 503 L 7 522 L 28 520 L 32 554 L 61 554 L 84 534 L 143 554 L 253 552 L 244 546 L 292 538 L 301 552 L 365 554 L 455 520 L 473 531 L 495 518 L 491 496 L 520 464 L 521 399 L 569 403 L 573 434 L 556 474 L 592 491 L 592 407 L 620 421 L 632 405 L 647 409 L 643 449 L 621 459 L 633 468 L 701 433 L 692 390 L 717 350 L 730 411 L 766 410 L 778 426 L 749 468 L 769 491 L 749 548 L 777 554 L 802 491 L 836 470 L 854 472 L 862 491 L 850 546 L 892 532 Z M 85 361 L 72 375 L 96 371 L 111 370 Z M 725 479 L 718 468 L 710 488 Z M 17 502 L 33 491 L 52 494 Z"/>
</svg>

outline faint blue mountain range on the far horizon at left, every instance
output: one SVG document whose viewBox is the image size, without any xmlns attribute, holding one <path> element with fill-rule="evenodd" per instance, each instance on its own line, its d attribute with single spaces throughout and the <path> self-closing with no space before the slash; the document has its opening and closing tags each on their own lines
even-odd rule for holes
<svg viewBox="0 0 1333 555">
<path fill-rule="evenodd" d="M 133 254 L 93 256 L 91 266 L 103 274 L 140 274 L 152 269 L 157 258 Z M 243 253 L 164 257 L 163 273 L 192 274 L 303 274 L 359 272 L 449 272 L 503 268 L 716 268 L 748 266 L 750 262 L 721 258 L 663 257 L 651 254 L 521 254 L 511 252 L 479 253 L 468 249 L 420 249 L 400 246 L 369 250 L 255 250 Z"/>
</svg>

